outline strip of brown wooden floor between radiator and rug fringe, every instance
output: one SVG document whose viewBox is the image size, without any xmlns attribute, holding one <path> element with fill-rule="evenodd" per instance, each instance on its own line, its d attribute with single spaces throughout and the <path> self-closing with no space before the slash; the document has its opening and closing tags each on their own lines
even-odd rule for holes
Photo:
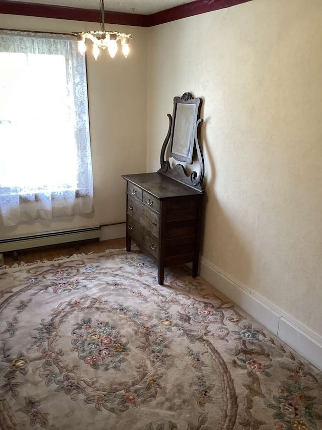
<svg viewBox="0 0 322 430">
<path fill-rule="evenodd" d="M 18 251 L 17 255 L 14 253 L 5 253 L 4 264 L 11 267 L 15 263 L 34 263 L 37 260 L 53 260 L 62 256 L 69 257 L 73 254 L 89 254 L 90 252 L 103 253 L 105 250 L 122 248 L 125 248 L 125 237 L 95 242 L 65 243 L 55 245 L 54 247 L 22 250 Z"/>
</svg>

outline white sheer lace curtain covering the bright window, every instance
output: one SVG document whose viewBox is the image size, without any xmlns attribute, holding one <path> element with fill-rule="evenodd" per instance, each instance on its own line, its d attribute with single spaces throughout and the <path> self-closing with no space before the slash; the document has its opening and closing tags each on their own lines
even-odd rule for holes
<svg viewBox="0 0 322 430">
<path fill-rule="evenodd" d="M 85 58 L 73 36 L 0 31 L 0 225 L 93 212 Z"/>
</svg>

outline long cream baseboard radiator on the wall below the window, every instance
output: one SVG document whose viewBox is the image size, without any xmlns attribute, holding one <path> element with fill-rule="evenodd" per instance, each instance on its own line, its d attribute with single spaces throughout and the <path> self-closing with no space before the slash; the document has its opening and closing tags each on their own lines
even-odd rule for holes
<svg viewBox="0 0 322 430">
<path fill-rule="evenodd" d="M 101 227 L 74 228 L 71 230 L 49 231 L 28 236 L 0 239 L 0 253 L 20 251 L 29 248 L 46 247 L 67 242 L 100 238 Z"/>
</svg>

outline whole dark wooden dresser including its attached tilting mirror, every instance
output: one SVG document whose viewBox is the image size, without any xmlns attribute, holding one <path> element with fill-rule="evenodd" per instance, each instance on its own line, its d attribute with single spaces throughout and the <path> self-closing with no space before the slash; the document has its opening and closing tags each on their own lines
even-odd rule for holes
<svg viewBox="0 0 322 430">
<path fill-rule="evenodd" d="M 197 276 L 200 243 L 201 186 L 204 160 L 198 130 L 201 98 L 191 93 L 174 98 L 173 117 L 160 153 L 160 169 L 153 173 L 122 175 L 126 180 L 126 250 L 131 239 L 158 263 L 158 282 L 165 266 L 192 262 Z M 167 152 L 167 146 L 170 144 Z M 170 150 L 170 151 L 169 151 Z M 166 160 L 198 161 L 199 173 L 187 173 L 182 164 Z"/>
</svg>

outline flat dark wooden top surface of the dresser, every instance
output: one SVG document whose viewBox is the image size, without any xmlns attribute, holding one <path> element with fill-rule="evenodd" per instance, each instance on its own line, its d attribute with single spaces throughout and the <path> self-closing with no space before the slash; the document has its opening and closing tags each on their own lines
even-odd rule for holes
<svg viewBox="0 0 322 430">
<path fill-rule="evenodd" d="M 202 196 L 200 191 L 158 172 L 122 175 L 122 177 L 159 200 L 184 196 Z"/>
</svg>

